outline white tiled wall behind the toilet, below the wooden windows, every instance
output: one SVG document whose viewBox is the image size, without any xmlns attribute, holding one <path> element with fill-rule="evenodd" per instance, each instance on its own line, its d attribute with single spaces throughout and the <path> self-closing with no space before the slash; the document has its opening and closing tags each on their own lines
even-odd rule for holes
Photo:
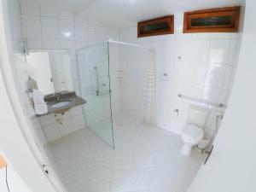
<svg viewBox="0 0 256 192">
<path fill-rule="evenodd" d="M 236 74 L 239 55 L 239 33 L 183 34 L 183 13 L 175 15 L 175 34 L 137 38 L 137 27 L 120 30 L 120 40 L 143 44 L 156 49 L 157 124 L 179 133 L 185 124 L 189 102 L 177 94 L 195 96 L 213 103 L 227 104 Z M 168 79 L 163 74 L 167 73 Z M 179 109 L 179 116 L 173 113 Z M 212 108 L 206 125 L 209 135 L 214 134 L 217 113 Z"/>
</svg>

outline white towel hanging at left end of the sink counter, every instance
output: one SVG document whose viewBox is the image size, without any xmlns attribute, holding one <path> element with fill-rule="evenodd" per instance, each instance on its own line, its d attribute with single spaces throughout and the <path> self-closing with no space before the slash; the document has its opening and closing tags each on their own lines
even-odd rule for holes
<svg viewBox="0 0 256 192">
<path fill-rule="evenodd" d="M 47 104 L 44 102 L 44 94 L 39 90 L 32 91 L 32 100 L 36 114 L 48 112 Z"/>
</svg>

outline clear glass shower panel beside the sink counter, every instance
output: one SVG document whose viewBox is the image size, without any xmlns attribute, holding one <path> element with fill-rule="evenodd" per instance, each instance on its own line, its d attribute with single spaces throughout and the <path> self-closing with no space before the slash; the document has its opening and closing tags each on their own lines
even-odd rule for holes
<svg viewBox="0 0 256 192">
<path fill-rule="evenodd" d="M 86 125 L 114 148 L 108 57 L 108 43 L 78 51 L 81 96 L 87 102 Z"/>
</svg>

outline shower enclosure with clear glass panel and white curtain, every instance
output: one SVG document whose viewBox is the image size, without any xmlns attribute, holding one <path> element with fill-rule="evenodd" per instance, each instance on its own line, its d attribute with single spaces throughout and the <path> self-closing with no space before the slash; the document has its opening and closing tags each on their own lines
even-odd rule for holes
<svg viewBox="0 0 256 192">
<path fill-rule="evenodd" d="M 121 113 L 154 124 L 154 49 L 108 41 L 79 49 L 78 63 L 85 122 L 98 137 L 114 148 L 113 120 Z"/>
</svg>

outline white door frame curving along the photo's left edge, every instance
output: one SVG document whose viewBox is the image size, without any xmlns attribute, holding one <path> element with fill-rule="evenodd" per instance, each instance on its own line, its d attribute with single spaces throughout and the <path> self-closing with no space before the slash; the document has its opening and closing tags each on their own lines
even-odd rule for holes
<svg viewBox="0 0 256 192">
<path fill-rule="evenodd" d="M 11 41 L 9 38 L 9 27 L 6 22 L 8 17 L 7 1 L 0 1 L 0 146 L 8 162 L 12 162 L 15 171 L 24 179 L 26 184 L 34 191 L 55 191 L 53 183 L 49 183 L 48 177 L 41 169 L 40 154 L 34 139 L 32 139 L 29 124 L 26 121 L 24 111 L 20 105 L 20 97 L 16 90 L 16 77 L 13 66 L 10 65 L 12 58 Z M 15 106 L 15 111 L 13 110 Z M 22 127 L 22 129 L 21 129 Z M 26 137 L 25 137 L 26 136 Z M 30 145 L 28 145 L 30 143 Z M 35 158 L 34 154 L 38 154 Z M 7 159 L 7 158 L 6 158 Z M 33 173 L 32 175 L 30 173 Z M 51 175 L 51 174 L 50 174 Z M 51 177 L 49 175 L 49 177 Z M 58 187 L 58 189 L 60 189 Z"/>
</svg>

